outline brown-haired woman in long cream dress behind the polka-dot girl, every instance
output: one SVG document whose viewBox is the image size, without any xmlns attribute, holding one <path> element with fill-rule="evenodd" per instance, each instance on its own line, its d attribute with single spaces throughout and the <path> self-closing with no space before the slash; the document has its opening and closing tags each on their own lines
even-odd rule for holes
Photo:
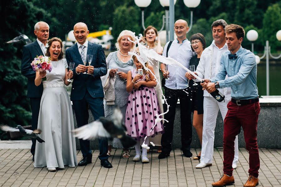
<svg viewBox="0 0 281 187">
<path fill-rule="evenodd" d="M 155 50 L 156 53 L 159 55 L 162 55 L 163 53 L 163 47 L 161 46 L 160 37 L 158 36 L 157 29 L 153 26 L 148 26 L 144 31 L 144 37 L 142 38 L 142 41 L 145 43 L 145 46 L 149 46 L 149 49 Z M 155 45 L 156 43 L 156 45 Z M 162 92 L 161 92 L 161 80 L 160 80 L 160 74 L 159 74 L 159 61 L 150 59 L 153 64 L 151 66 L 153 67 L 156 79 L 158 81 L 155 91 L 158 99 L 158 103 L 160 105 L 160 112 L 163 113 L 163 104 L 162 104 Z M 153 142 L 156 146 L 158 146 L 157 152 L 161 152 L 161 134 L 158 134 L 157 136 L 150 138 L 150 141 Z M 149 152 L 149 151 L 148 151 Z"/>
</svg>

